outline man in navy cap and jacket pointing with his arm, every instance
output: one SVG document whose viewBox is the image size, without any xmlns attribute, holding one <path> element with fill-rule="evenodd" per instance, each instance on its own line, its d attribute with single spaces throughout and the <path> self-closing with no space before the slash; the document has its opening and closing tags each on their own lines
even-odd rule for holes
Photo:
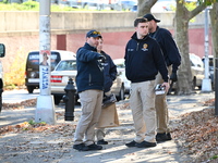
<svg viewBox="0 0 218 163">
<path fill-rule="evenodd" d="M 105 57 L 97 52 L 101 35 L 97 30 L 86 34 L 84 47 L 76 52 L 76 87 L 81 100 L 82 115 L 74 134 L 73 148 L 78 151 L 101 150 L 95 143 L 95 127 L 101 112 L 104 95 L 104 67 Z"/>
</svg>

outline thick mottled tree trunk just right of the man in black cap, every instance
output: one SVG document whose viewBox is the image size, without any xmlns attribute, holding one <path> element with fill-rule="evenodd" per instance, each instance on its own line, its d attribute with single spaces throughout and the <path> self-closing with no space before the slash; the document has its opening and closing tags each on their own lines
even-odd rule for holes
<svg viewBox="0 0 218 163">
<path fill-rule="evenodd" d="M 192 91 L 191 65 L 189 57 L 189 11 L 177 0 L 175 11 L 175 42 L 181 53 L 181 65 L 178 72 L 177 95 L 189 95 Z"/>
</svg>

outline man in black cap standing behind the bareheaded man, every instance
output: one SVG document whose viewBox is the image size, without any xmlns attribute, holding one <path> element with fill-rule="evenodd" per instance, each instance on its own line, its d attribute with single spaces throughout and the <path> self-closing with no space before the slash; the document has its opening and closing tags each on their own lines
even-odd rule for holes
<svg viewBox="0 0 218 163">
<path fill-rule="evenodd" d="M 170 80 L 177 82 L 177 71 L 181 64 L 181 55 L 171 33 L 166 28 L 159 27 L 157 23 L 159 23 L 160 20 L 157 20 L 153 14 L 148 13 L 144 15 L 144 17 L 148 21 L 149 36 L 157 40 L 162 50 L 165 62 L 168 66 Z M 161 83 L 161 76 L 158 74 L 156 77 L 156 85 Z M 166 95 L 156 96 L 155 106 L 157 112 L 156 140 L 157 142 L 171 140 L 172 138 L 168 128 L 169 115 Z"/>
</svg>

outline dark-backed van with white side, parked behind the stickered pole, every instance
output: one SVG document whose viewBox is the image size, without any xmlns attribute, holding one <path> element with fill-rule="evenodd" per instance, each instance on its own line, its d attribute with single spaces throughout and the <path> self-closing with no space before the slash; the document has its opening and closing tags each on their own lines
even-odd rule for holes
<svg viewBox="0 0 218 163">
<path fill-rule="evenodd" d="M 75 53 L 63 50 L 51 50 L 51 71 L 64 59 L 75 59 Z M 28 93 L 39 88 L 39 51 L 31 51 L 26 59 L 25 86 Z"/>
</svg>

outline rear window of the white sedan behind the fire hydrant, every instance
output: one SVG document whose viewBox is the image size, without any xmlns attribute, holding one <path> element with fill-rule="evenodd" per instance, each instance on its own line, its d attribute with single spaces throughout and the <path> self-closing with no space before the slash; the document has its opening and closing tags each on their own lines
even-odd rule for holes
<svg viewBox="0 0 218 163">
<path fill-rule="evenodd" d="M 76 61 L 61 61 L 56 71 L 76 71 Z"/>
</svg>

